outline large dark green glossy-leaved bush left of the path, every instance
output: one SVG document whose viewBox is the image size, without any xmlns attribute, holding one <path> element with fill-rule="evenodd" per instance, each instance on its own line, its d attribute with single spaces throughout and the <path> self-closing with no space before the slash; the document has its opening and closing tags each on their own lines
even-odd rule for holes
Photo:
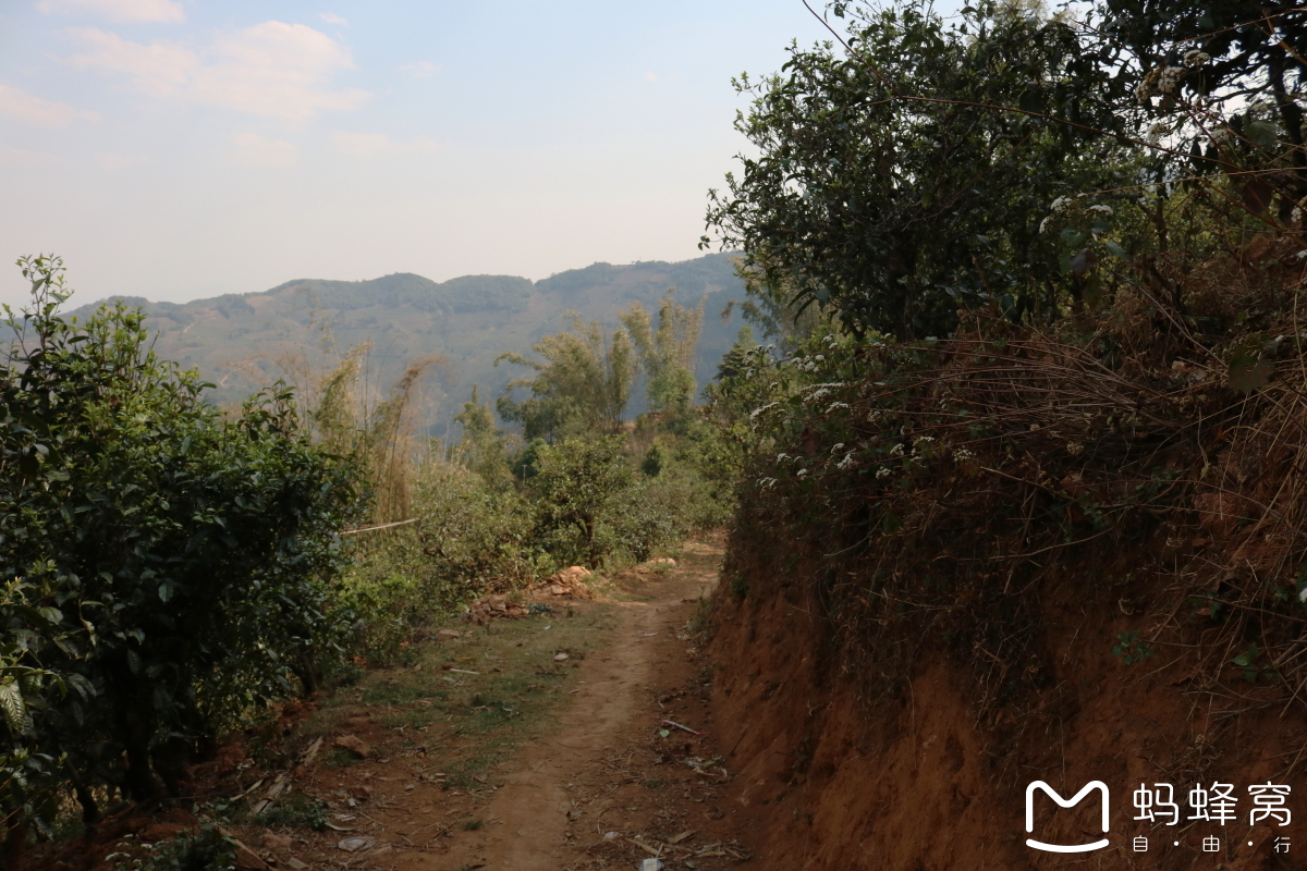
<svg viewBox="0 0 1307 871">
<path fill-rule="evenodd" d="M 64 320 L 59 260 L 20 265 L 33 306 L 7 309 L 0 356 L 0 575 L 22 601 L 0 627 L 20 665 L 59 678 L 25 746 L 64 759 L 80 799 L 149 799 L 251 705 L 312 683 L 357 474 L 310 443 L 289 392 L 225 419 L 149 350 L 139 312 Z"/>
</svg>

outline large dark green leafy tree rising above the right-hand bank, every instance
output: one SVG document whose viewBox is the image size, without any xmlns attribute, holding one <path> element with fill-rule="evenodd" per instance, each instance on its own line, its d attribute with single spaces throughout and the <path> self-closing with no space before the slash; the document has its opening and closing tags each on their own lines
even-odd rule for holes
<svg viewBox="0 0 1307 871">
<path fill-rule="evenodd" d="M 793 46 L 780 74 L 737 82 L 758 157 L 710 195 L 723 247 L 857 334 L 942 336 L 988 302 L 1052 316 L 1074 287 L 1040 234 L 1050 202 L 1129 180 L 1098 132 L 1128 123 L 1119 50 L 993 3 L 953 25 L 919 0 L 831 10 L 847 52 Z"/>
</svg>

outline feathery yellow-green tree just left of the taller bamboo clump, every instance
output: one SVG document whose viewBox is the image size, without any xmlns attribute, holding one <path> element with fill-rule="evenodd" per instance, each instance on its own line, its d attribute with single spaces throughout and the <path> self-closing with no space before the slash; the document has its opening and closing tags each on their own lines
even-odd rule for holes
<svg viewBox="0 0 1307 871">
<path fill-rule="evenodd" d="M 613 432 L 631 396 L 637 360 L 626 330 L 605 336 L 597 321 L 587 324 L 571 312 L 571 332 L 546 336 L 532 350 L 545 362 L 520 354 L 495 359 L 525 366 L 533 379 L 508 383 L 497 404 L 499 417 L 523 424 L 523 437 L 553 440 L 579 432 Z M 512 398 L 515 389 L 531 390 L 527 400 Z"/>
</svg>

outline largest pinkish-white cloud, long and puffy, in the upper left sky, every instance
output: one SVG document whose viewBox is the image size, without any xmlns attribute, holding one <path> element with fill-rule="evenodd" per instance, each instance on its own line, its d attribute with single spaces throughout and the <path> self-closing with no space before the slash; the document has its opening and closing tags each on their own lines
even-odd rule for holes
<svg viewBox="0 0 1307 871">
<path fill-rule="evenodd" d="M 71 64 L 125 74 L 152 97 L 176 95 L 288 121 L 350 111 L 371 97 L 357 87 L 328 86 L 335 72 L 354 63 L 344 46 L 306 25 L 265 21 L 218 34 L 199 51 L 169 42 L 145 46 L 94 27 L 69 33 L 88 47 L 69 57 Z"/>
</svg>

